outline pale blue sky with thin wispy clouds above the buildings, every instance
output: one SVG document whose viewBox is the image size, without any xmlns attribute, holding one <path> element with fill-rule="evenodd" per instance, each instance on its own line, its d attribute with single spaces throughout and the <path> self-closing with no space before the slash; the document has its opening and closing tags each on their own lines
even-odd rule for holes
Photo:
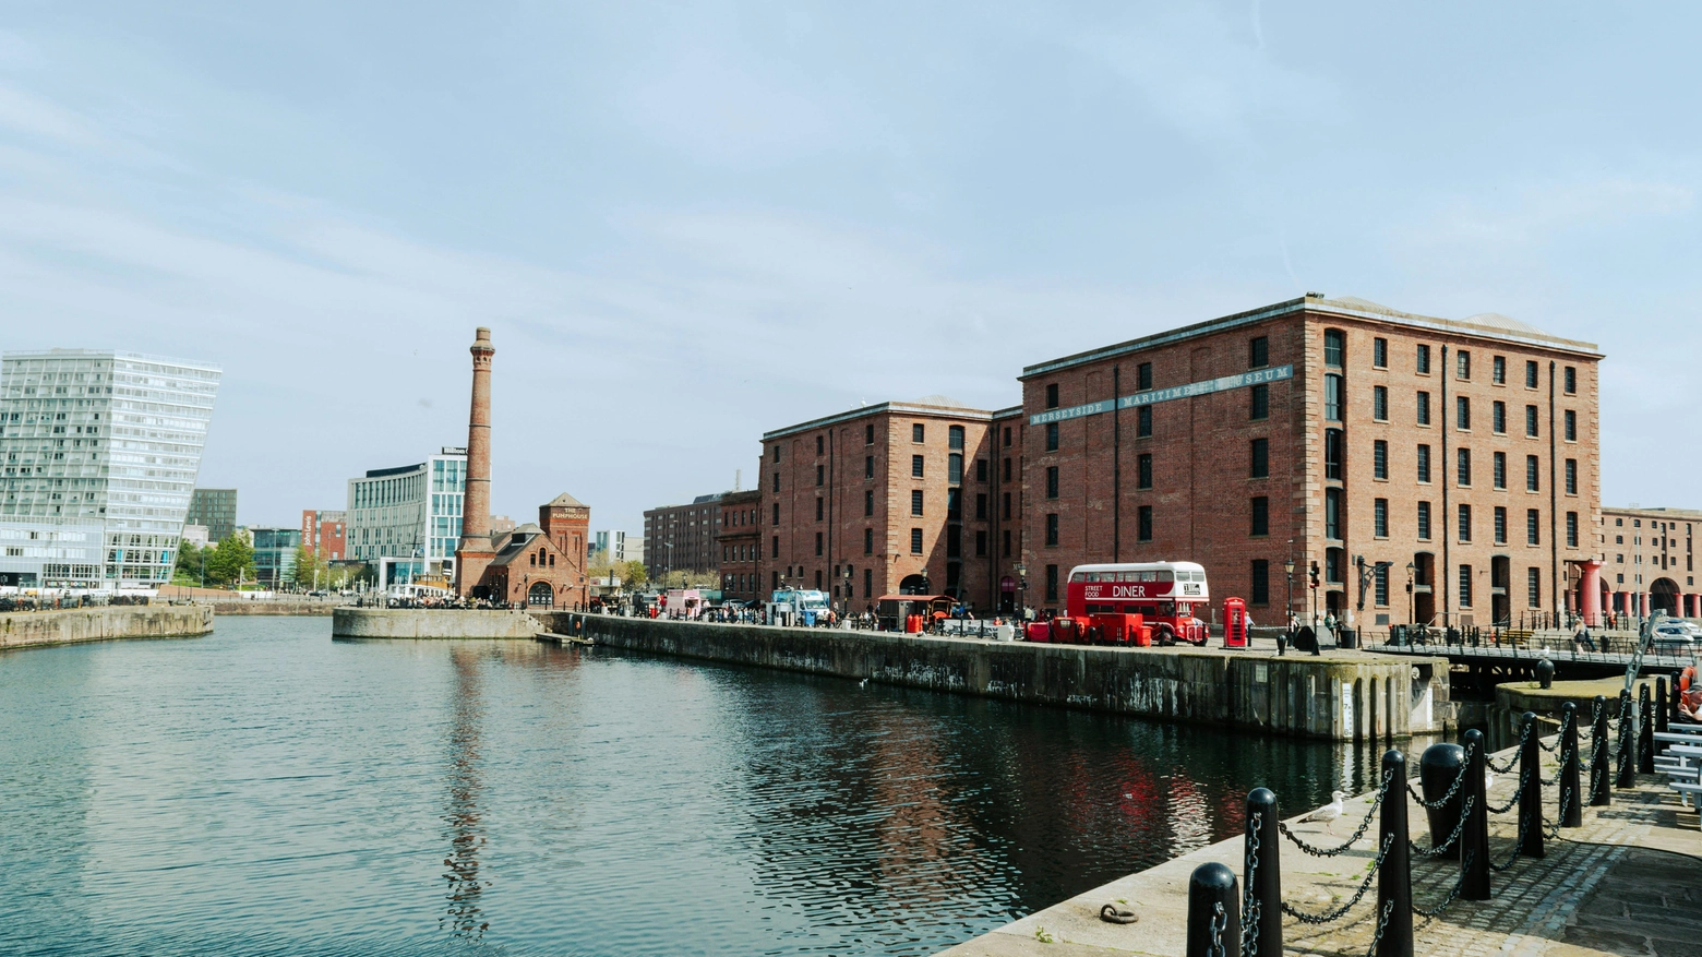
<svg viewBox="0 0 1702 957">
<path fill-rule="evenodd" d="M 1702 9 L 0 0 L 0 349 L 225 371 L 245 524 L 466 441 L 594 528 L 861 402 L 1319 291 L 1607 354 L 1702 507 Z M 1685 373 L 1683 370 L 1692 370 Z"/>
</svg>

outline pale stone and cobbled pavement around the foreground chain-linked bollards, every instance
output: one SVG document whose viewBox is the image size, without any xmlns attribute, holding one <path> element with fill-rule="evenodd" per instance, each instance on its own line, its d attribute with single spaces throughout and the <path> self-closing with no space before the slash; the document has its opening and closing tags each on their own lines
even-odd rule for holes
<svg viewBox="0 0 1702 957">
<path fill-rule="evenodd" d="M 1506 754 L 1503 754 L 1505 758 Z M 1552 758 L 1544 770 L 1556 776 Z M 1513 795 L 1518 775 L 1496 775 L 1491 807 Z M 1588 775 L 1585 776 L 1588 780 Z M 1544 790 L 1552 821 L 1559 804 L 1554 785 Z M 1348 802 L 1333 831 L 1290 826 L 1316 845 L 1339 845 L 1370 811 L 1368 795 Z M 1423 811 L 1409 805 L 1413 840 L 1430 845 Z M 1334 858 L 1282 850 L 1283 899 L 1322 913 L 1339 908 L 1360 887 L 1374 858 L 1375 822 L 1367 838 Z M 1489 853 L 1506 863 L 1518 836 L 1518 814 L 1489 819 Z M 950 957 L 1111 957 L 1181 955 L 1188 875 L 1217 860 L 1241 874 L 1241 838 L 1168 862 L 1152 870 L 1030 914 L 1006 928 L 953 947 Z M 1459 880 L 1459 862 L 1413 858 L 1413 901 L 1433 909 Z M 1108 901 L 1130 903 L 1140 921 L 1106 925 L 1096 914 Z M 1372 943 L 1375 884 L 1348 916 L 1309 926 L 1283 918 L 1283 950 L 1363 957 Z M 1697 812 L 1680 807 L 1663 776 L 1641 776 L 1639 787 L 1615 790 L 1610 807 L 1586 807 L 1581 828 L 1564 828 L 1545 841 L 1545 857 L 1520 857 L 1493 874 L 1489 901 L 1454 901 L 1435 918 L 1413 918 L 1414 954 L 1513 957 L 1573 957 L 1583 954 L 1648 954 L 1702 957 L 1702 831 Z"/>
</svg>

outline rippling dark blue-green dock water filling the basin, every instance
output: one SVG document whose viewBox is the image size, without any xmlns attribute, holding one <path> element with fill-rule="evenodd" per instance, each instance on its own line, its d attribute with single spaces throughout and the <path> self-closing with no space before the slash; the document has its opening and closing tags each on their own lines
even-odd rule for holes
<svg viewBox="0 0 1702 957">
<path fill-rule="evenodd" d="M 37 863 L 0 952 L 922 955 L 1237 833 L 1253 787 L 1363 790 L 1380 751 L 218 628 L 3 659 L 0 862 Z"/>
</svg>

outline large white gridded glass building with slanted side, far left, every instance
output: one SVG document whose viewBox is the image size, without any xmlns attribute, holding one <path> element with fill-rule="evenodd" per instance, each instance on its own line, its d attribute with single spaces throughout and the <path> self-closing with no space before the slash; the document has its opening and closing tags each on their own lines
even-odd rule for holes
<svg viewBox="0 0 1702 957">
<path fill-rule="evenodd" d="M 0 356 L 0 587 L 170 581 L 218 385 L 134 352 Z"/>
</svg>

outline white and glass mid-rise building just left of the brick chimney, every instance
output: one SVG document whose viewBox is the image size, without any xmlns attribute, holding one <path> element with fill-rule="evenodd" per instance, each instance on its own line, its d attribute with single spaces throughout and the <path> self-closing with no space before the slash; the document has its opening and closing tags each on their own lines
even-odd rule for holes
<svg viewBox="0 0 1702 957">
<path fill-rule="evenodd" d="M 453 577 L 465 492 L 466 450 L 458 446 L 349 478 L 349 557 L 380 569 L 385 586 Z"/>
</svg>

